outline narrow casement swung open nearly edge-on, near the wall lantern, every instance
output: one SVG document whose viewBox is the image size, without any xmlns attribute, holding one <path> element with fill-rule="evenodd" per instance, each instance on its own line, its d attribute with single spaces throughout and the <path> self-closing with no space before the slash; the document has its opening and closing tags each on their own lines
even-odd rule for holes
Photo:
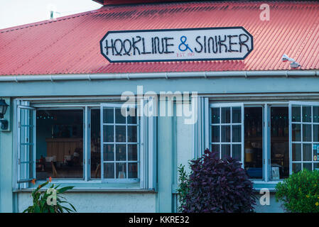
<svg viewBox="0 0 319 227">
<path fill-rule="evenodd" d="M 17 106 L 18 183 L 36 178 L 36 109 L 22 102 Z"/>
</svg>

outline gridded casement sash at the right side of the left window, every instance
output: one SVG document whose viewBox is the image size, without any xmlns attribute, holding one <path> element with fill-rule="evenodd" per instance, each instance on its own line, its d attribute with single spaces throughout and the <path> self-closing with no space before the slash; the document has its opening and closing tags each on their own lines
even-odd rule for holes
<svg viewBox="0 0 319 227">
<path fill-rule="evenodd" d="M 102 123 L 103 138 L 103 179 L 137 179 L 138 157 L 138 118 L 123 116 L 121 108 L 104 106 Z"/>
</svg>

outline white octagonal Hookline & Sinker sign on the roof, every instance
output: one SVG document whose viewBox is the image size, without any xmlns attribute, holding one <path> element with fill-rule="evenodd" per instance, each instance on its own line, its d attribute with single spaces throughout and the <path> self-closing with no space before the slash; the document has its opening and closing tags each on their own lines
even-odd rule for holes
<svg viewBox="0 0 319 227">
<path fill-rule="evenodd" d="M 100 48 L 109 62 L 244 60 L 253 37 L 243 27 L 109 31 Z"/>
</svg>

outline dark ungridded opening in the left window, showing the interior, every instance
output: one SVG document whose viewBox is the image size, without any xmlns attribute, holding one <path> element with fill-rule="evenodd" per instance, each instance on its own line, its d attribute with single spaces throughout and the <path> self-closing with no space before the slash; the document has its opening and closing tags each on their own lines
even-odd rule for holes
<svg viewBox="0 0 319 227">
<path fill-rule="evenodd" d="M 83 178 L 82 109 L 39 110 L 36 118 L 36 179 Z"/>
</svg>

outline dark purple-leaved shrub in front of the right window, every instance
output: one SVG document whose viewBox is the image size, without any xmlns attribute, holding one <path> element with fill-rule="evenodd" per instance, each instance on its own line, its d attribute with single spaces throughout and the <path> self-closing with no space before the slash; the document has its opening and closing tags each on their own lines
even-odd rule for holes
<svg viewBox="0 0 319 227">
<path fill-rule="evenodd" d="M 220 159 L 218 153 L 205 150 L 205 155 L 192 160 L 192 173 L 185 195 L 183 212 L 244 213 L 254 210 L 252 182 L 242 164 L 231 157 Z"/>
</svg>

